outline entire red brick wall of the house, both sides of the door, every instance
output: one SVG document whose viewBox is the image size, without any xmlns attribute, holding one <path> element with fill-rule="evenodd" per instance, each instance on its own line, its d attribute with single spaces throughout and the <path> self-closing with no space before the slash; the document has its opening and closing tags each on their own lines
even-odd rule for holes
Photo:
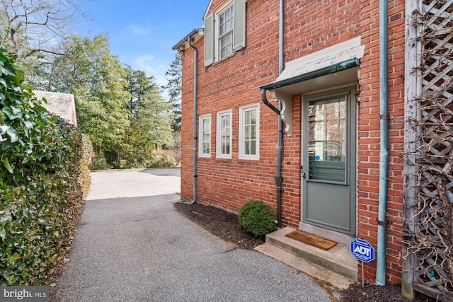
<svg viewBox="0 0 453 302">
<path fill-rule="evenodd" d="M 212 1 L 208 13 L 224 0 Z M 246 47 L 204 67 L 202 40 L 198 49 L 197 117 L 211 114 L 211 157 L 197 157 L 197 202 L 238 211 L 249 199 L 261 199 L 276 209 L 277 115 L 261 102 L 259 86 L 278 76 L 279 7 L 275 0 L 253 0 L 246 11 Z M 285 1 L 284 61 L 311 54 L 361 35 L 357 121 L 357 237 L 377 244 L 379 188 L 379 0 Z M 183 54 L 181 197 L 193 199 L 193 50 Z M 389 1 L 389 220 L 387 281 L 401 282 L 404 1 Z M 270 94 L 268 99 L 272 100 Z M 238 158 L 239 107 L 260 103 L 260 159 Z M 276 105 L 276 104 L 275 104 Z M 215 157 L 216 112 L 232 110 L 232 158 Z M 294 95 L 292 136 L 284 136 L 282 161 L 282 224 L 300 221 L 301 98 Z M 365 266 L 374 283 L 376 261 Z"/>
</svg>

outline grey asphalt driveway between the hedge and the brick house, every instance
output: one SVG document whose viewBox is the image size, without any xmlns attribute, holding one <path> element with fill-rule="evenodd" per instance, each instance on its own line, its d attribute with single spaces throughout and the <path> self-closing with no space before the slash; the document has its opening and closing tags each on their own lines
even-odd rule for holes
<svg viewBox="0 0 453 302">
<path fill-rule="evenodd" d="M 332 301 L 311 277 L 178 214 L 179 170 L 91 175 L 57 301 Z"/>
</svg>

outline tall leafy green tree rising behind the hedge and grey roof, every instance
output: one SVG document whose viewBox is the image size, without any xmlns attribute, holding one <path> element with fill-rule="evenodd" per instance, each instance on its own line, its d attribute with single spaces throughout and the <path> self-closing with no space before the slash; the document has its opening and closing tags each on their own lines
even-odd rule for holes
<svg viewBox="0 0 453 302">
<path fill-rule="evenodd" d="M 74 35 L 66 53 L 52 66 L 52 90 L 74 94 L 81 131 L 98 153 L 110 149 L 121 153 L 121 141 L 129 122 L 125 103 L 130 98 L 126 71 L 110 54 L 108 39 Z"/>
</svg>

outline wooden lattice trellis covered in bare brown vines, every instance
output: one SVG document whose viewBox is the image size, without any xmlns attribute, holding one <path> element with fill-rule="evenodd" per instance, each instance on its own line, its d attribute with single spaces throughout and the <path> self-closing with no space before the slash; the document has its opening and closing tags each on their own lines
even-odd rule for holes
<svg viewBox="0 0 453 302">
<path fill-rule="evenodd" d="M 413 78 L 406 82 L 411 112 L 406 126 L 411 133 L 406 173 L 411 175 L 406 179 L 413 182 L 406 189 L 413 192 L 405 195 L 410 210 L 404 238 L 406 268 L 413 275 L 408 278 L 406 272 L 406 281 L 413 281 L 416 291 L 453 301 L 453 0 L 408 7 L 406 47 L 418 59 L 406 62 L 413 65 L 406 74 Z"/>
</svg>

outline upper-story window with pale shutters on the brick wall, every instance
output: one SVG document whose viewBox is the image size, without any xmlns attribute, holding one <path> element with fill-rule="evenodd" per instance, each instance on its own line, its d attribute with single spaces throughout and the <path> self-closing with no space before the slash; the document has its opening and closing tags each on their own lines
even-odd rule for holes
<svg viewBox="0 0 453 302">
<path fill-rule="evenodd" d="M 226 1 L 205 18 L 205 66 L 246 47 L 246 1 Z"/>
</svg>

